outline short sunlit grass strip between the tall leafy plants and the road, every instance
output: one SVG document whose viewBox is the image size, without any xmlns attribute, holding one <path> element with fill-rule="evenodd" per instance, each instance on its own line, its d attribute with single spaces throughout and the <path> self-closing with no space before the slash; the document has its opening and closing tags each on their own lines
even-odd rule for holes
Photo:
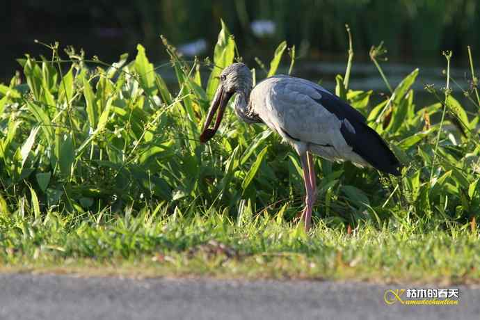
<svg viewBox="0 0 480 320">
<path fill-rule="evenodd" d="M 378 228 L 317 223 L 311 234 L 280 216 L 241 223 L 221 214 L 166 211 L 125 216 L 0 220 L 2 271 L 87 275 L 355 279 L 479 283 L 480 242 L 470 227 L 425 229 L 403 221 Z"/>
</svg>

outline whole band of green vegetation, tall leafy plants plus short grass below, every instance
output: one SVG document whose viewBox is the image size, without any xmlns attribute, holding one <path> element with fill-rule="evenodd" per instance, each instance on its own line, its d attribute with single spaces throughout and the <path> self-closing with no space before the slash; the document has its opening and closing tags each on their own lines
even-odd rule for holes
<svg viewBox="0 0 480 320">
<path fill-rule="evenodd" d="M 426 86 L 438 97 L 429 106 L 415 104 L 419 70 L 389 83 L 381 46 L 371 58 L 391 88 L 383 102 L 349 88 L 348 71 L 337 76 L 337 95 L 405 168 L 387 177 L 315 159 L 317 223 L 305 234 L 292 222 L 303 180 L 291 147 L 232 112 L 198 141 L 221 68 L 241 59 L 226 26 L 211 62 L 184 61 L 162 40 L 168 65 L 154 67 L 140 45 L 115 65 L 51 45 L 0 85 L 1 269 L 479 282 L 480 102 L 474 86 L 469 109 L 451 95 L 451 55 L 445 90 Z M 175 91 L 161 77 L 170 67 Z"/>
</svg>

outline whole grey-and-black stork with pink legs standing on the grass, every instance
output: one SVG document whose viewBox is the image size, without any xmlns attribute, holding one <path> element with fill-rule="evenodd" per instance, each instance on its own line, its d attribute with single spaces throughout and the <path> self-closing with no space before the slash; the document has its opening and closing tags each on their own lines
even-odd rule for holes
<svg viewBox="0 0 480 320">
<path fill-rule="evenodd" d="M 236 94 L 234 111 L 248 123 L 264 123 L 287 141 L 301 160 L 305 182 L 305 209 L 301 218 L 310 229 L 317 197 L 312 154 L 330 161 L 351 161 L 383 173 L 399 175 L 401 164 L 385 141 L 371 129 L 365 117 L 342 99 L 311 81 L 277 75 L 252 88 L 252 73 L 243 63 L 221 72 L 200 142 L 214 136 L 228 100 Z M 209 128 L 216 111 L 214 128 Z"/>
</svg>

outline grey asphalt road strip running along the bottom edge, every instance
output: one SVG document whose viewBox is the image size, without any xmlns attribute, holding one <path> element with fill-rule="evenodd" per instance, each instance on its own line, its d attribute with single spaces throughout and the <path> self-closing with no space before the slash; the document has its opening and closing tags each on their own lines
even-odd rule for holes
<svg viewBox="0 0 480 320">
<path fill-rule="evenodd" d="M 480 319 L 480 289 L 457 306 L 386 305 L 366 283 L 131 280 L 0 274 L 0 319 Z"/>
</svg>

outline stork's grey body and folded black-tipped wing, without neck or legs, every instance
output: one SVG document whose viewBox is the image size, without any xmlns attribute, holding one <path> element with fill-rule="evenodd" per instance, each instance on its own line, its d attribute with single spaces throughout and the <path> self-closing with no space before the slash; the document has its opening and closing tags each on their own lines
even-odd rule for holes
<svg viewBox="0 0 480 320">
<path fill-rule="evenodd" d="M 294 145 L 328 159 L 349 160 L 398 174 L 399 161 L 365 117 L 325 88 L 275 76 L 255 86 L 250 101 L 259 117 Z"/>
</svg>

